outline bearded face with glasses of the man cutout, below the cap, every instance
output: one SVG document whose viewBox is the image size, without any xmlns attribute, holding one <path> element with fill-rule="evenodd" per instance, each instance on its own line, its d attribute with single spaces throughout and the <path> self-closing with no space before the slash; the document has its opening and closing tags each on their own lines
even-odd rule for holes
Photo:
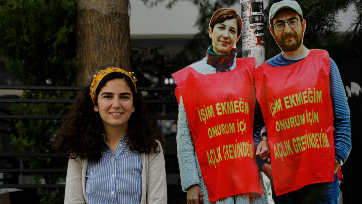
<svg viewBox="0 0 362 204">
<path fill-rule="evenodd" d="M 298 19 L 298 26 L 290 28 L 289 24 L 285 23 L 284 29 L 273 29 L 275 23 L 283 23 L 292 19 Z M 300 19 L 298 13 L 292 9 L 285 9 L 274 16 L 270 32 L 283 52 L 293 52 L 302 45 L 305 27 L 306 21 Z"/>
</svg>

